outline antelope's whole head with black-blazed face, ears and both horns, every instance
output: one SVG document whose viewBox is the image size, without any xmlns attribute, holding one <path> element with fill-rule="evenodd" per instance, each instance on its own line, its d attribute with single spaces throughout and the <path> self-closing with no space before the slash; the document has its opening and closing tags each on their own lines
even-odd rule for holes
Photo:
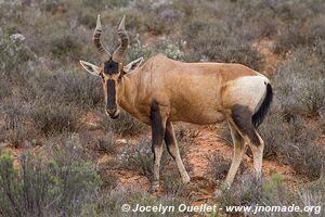
<svg viewBox="0 0 325 217">
<path fill-rule="evenodd" d="M 118 98 L 122 94 L 122 84 L 123 76 L 127 73 L 136 69 L 143 61 L 143 58 L 140 58 L 128 65 L 123 66 L 123 58 L 126 50 L 129 44 L 129 37 L 126 31 L 126 16 L 121 18 L 121 22 L 118 26 L 117 34 L 119 38 L 119 46 L 114 51 L 113 55 L 101 42 L 102 24 L 101 17 L 98 15 L 96 27 L 93 33 L 93 43 L 98 49 L 102 58 L 101 66 L 80 61 L 82 67 L 92 75 L 96 75 L 102 78 L 103 89 L 104 89 L 104 99 L 106 105 L 106 114 L 110 118 L 117 118 L 119 115 L 119 108 L 117 105 Z"/>
</svg>

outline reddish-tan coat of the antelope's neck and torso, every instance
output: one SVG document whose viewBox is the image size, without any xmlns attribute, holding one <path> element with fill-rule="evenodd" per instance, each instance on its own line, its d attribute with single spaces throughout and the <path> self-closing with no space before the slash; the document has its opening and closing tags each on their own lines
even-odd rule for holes
<svg viewBox="0 0 325 217">
<path fill-rule="evenodd" d="M 143 66 L 123 77 L 117 86 L 118 104 L 141 122 L 150 125 L 150 106 L 156 100 L 170 122 L 214 124 L 225 119 L 225 112 L 233 104 L 250 102 L 260 92 L 232 91 L 234 80 L 243 76 L 261 74 L 240 64 L 182 63 L 157 55 Z M 262 82 L 262 85 L 264 85 Z M 252 87 L 253 88 L 253 87 Z M 229 95 L 236 95 L 229 99 Z M 242 101 L 240 101 L 242 99 Z"/>
</svg>

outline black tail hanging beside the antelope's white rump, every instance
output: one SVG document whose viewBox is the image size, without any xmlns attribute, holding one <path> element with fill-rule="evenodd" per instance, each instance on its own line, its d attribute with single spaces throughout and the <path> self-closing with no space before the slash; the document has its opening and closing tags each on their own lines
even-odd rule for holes
<svg viewBox="0 0 325 217">
<path fill-rule="evenodd" d="M 252 115 L 252 125 L 255 126 L 255 128 L 258 128 L 260 126 L 260 124 L 262 124 L 264 117 L 268 114 L 268 111 L 270 108 L 271 102 L 273 99 L 273 91 L 272 91 L 272 87 L 270 84 L 266 85 L 266 94 L 265 98 L 261 104 L 261 106 L 259 107 L 259 110 Z"/>
</svg>

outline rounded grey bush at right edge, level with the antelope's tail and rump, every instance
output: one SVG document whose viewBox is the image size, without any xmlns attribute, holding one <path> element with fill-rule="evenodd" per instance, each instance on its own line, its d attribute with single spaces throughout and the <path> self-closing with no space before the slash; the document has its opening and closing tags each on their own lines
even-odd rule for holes
<svg viewBox="0 0 325 217">
<path fill-rule="evenodd" d="M 309 49 L 299 49 L 281 66 L 274 77 L 276 95 L 288 114 L 315 116 L 325 106 L 324 64 Z"/>
</svg>

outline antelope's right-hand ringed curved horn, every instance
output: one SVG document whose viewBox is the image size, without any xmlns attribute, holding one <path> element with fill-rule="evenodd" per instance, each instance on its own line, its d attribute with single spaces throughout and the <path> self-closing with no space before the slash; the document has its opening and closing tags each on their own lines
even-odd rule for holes
<svg viewBox="0 0 325 217">
<path fill-rule="evenodd" d="M 120 43 L 119 43 L 119 47 L 116 49 L 116 51 L 113 53 L 113 60 L 115 62 L 120 63 L 123 60 L 123 54 L 129 44 L 129 37 L 126 31 L 126 15 L 123 15 L 123 17 L 118 26 L 117 34 L 119 36 Z"/>
</svg>

